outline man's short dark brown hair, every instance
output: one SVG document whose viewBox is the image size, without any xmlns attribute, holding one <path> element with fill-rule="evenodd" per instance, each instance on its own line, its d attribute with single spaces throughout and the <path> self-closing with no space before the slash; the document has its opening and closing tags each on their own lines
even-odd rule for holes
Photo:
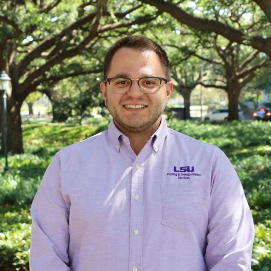
<svg viewBox="0 0 271 271">
<path fill-rule="evenodd" d="M 146 38 L 144 36 L 127 36 L 124 37 L 117 42 L 115 42 L 107 51 L 104 59 L 104 79 L 107 78 L 107 73 L 110 68 L 110 64 L 114 54 L 121 49 L 122 47 L 138 50 L 138 51 L 145 51 L 150 50 L 154 51 L 161 61 L 163 66 L 164 72 L 166 74 L 166 79 L 170 80 L 170 64 L 169 59 L 167 57 L 167 53 L 165 50 L 162 49 L 155 41 Z"/>
</svg>

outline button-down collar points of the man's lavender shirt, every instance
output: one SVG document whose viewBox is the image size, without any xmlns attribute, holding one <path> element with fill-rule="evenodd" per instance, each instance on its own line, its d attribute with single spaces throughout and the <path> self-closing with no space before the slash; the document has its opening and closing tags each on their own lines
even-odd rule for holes
<svg viewBox="0 0 271 271">
<path fill-rule="evenodd" d="M 161 123 L 158 129 L 154 132 L 154 134 L 150 138 L 153 150 L 155 152 L 159 150 L 159 147 L 164 142 L 164 139 L 166 138 L 167 133 L 168 133 L 168 129 L 167 129 L 166 120 L 162 116 Z M 113 118 L 110 121 L 108 135 L 109 135 L 109 140 L 111 141 L 116 151 L 120 152 L 120 147 L 121 147 L 120 141 L 122 140 L 122 138 L 126 136 L 123 133 L 121 133 L 120 130 L 118 130 L 118 128 L 116 127 L 114 123 Z"/>
</svg>

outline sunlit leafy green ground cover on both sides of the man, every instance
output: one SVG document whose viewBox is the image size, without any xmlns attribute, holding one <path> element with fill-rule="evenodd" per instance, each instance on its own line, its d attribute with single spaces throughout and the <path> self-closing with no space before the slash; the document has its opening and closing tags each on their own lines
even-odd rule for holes
<svg viewBox="0 0 271 271">
<path fill-rule="evenodd" d="M 24 123 L 24 154 L 9 156 L 0 168 L 0 270 L 28 271 L 30 205 L 56 151 L 107 128 L 107 119 L 88 124 Z M 220 147 L 243 183 L 254 223 L 253 271 L 271 271 L 271 122 L 221 124 L 168 122 L 169 127 Z M 0 156 L 0 166 L 4 157 Z"/>
</svg>

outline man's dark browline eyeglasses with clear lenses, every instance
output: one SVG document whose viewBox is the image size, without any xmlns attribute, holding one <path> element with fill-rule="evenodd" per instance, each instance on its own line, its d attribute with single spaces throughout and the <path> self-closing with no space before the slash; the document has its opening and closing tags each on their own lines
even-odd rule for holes
<svg viewBox="0 0 271 271">
<path fill-rule="evenodd" d="M 162 77 L 143 77 L 139 79 L 112 77 L 107 78 L 104 82 L 108 82 L 112 92 L 116 94 L 125 94 L 131 89 L 132 80 L 137 80 L 141 92 L 148 94 L 159 91 L 162 81 L 168 82 L 167 79 Z"/>
</svg>

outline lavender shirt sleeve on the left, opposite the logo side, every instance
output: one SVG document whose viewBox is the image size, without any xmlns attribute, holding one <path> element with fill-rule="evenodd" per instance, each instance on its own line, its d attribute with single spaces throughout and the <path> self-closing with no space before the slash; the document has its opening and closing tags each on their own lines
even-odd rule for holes
<svg viewBox="0 0 271 271">
<path fill-rule="evenodd" d="M 49 164 L 31 206 L 31 271 L 68 271 L 69 208 L 62 196 L 60 161 Z"/>
</svg>

